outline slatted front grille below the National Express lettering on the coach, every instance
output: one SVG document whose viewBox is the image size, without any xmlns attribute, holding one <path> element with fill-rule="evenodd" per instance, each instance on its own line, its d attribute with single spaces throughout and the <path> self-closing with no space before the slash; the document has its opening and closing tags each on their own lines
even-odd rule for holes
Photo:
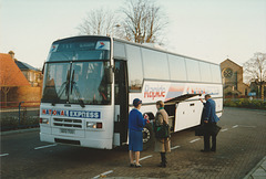
<svg viewBox="0 0 266 179">
<path fill-rule="evenodd" d="M 82 128 L 82 120 L 69 118 L 53 118 L 53 126 L 66 128 Z"/>
</svg>

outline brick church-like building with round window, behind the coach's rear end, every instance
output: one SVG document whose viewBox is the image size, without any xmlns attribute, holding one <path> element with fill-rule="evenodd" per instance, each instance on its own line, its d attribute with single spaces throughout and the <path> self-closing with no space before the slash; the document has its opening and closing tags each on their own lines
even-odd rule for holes
<svg viewBox="0 0 266 179">
<path fill-rule="evenodd" d="M 229 59 L 221 63 L 224 96 L 247 96 L 249 86 L 243 83 L 243 66 Z"/>
</svg>

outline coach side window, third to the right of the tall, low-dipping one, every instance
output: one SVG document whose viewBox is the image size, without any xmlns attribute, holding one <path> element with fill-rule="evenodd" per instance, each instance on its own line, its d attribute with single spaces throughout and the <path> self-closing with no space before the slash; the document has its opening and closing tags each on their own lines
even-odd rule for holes
<svg viewBox="0 0 266 179">
<path fill-rule="evenodd" d="M 198 61 L 186 59 L 187 80 L 201 82 Z"/>
</svg>

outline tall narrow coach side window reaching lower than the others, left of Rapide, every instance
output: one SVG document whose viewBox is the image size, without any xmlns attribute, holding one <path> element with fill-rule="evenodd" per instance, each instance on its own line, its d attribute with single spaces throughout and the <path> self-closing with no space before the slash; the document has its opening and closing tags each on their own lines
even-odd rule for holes
<svg viewBox="0 0 266 179">
<path fill-rule="evenodd" d="M 137 46 L 126 44 L 126 59 L 129 69 L 130 92 L 140 92 L 142 90 L 143 71 L 141 50 Z"/>
</svg>

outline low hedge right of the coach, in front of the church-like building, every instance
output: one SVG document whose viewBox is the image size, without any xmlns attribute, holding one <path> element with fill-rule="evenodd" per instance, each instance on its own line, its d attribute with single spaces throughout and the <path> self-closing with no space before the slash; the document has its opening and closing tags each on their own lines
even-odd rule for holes
<svg viewBox="0 0 266 179">
<path fill-rule="evenodd" d="M 266 109 L 266 102 L 248 98 L 225 99 L 224 106 Z"/>
</svg>

